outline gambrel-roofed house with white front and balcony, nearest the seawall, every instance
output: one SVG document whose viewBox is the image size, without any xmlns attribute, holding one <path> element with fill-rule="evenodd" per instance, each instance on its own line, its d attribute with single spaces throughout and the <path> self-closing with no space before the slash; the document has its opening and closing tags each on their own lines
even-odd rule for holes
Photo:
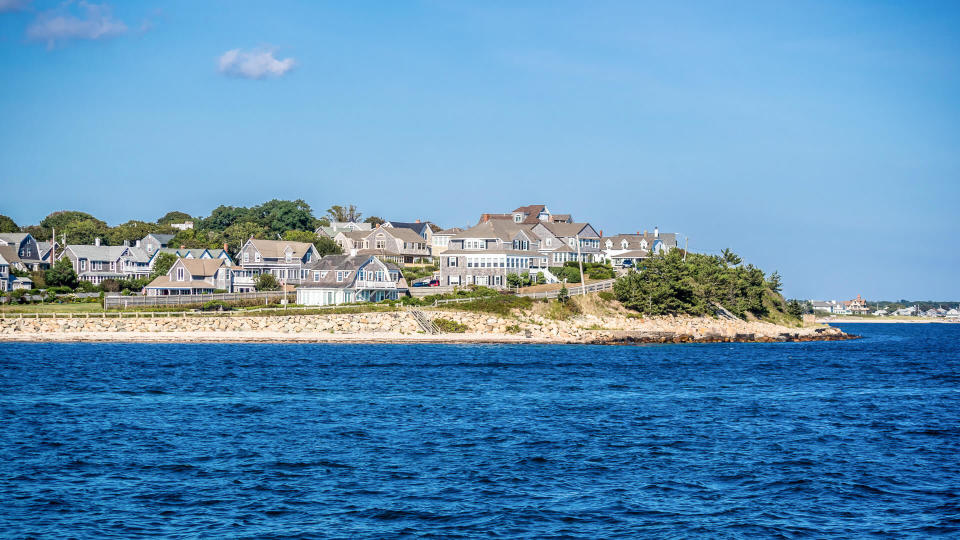
<svg viewBox="0 0 960 540">
<path fill-rule="evenodd" d="M 373 255 L 328 255 L 306 270 L 297 303 L 307 306 L 396 300 L 407 292 L 400 268 Z"/>
</svg>

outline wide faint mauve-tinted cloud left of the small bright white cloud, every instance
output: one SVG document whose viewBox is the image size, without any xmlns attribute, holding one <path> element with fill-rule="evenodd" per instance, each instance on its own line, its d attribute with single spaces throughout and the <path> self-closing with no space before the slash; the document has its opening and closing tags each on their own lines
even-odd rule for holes
<svg viewBox="0 0 960 540">
<path fill-rule="evenodd" d="M 82 11 L 79 15 L 70 12 L 69 3 L 41 13 L 27 28 L 27 37 L 46 41 L 47 46 L 52 48 L 58 41 L 102 39 L 127 32 L 127 25 L 111 15 L 110 6 L 83 1 L 78 5 Z"/>
</svg>

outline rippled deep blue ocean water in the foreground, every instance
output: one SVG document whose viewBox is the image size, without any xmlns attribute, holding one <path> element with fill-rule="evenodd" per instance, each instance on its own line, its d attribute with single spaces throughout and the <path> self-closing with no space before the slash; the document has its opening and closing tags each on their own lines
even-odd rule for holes
<svg viewBox="0 0 960 540">
<path fill-rule="evenodd" d="M 960 325 L 0 344 L 0 537 L 957 537 Z"/>
</svg>

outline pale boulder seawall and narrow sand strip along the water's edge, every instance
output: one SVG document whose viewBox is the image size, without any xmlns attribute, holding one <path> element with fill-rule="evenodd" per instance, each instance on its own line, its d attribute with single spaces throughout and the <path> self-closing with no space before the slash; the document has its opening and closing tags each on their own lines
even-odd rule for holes
<svg viewBox="0 0 960 540">
<path fill-rule="evenodd" d="M 425 334 L 405 311 L 331 315 L 169 318 L 6 318 L 0 341 L 344 341 L 681 343 L 848 339 L 837 328 L 787 328 L 770 323 L 696 317 L 580 315 L 559 321 L 530 313 L 499 317 L 426 311 L 464 324 L 465 333 Z"/>
</svg>

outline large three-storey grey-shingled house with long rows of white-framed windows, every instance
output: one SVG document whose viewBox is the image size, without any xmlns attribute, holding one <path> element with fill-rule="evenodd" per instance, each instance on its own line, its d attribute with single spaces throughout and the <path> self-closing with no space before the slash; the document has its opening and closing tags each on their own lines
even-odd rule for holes
<svg viewBox="0 0 960 540">
<path fill-rule="evenodd" d="M 530 225 L 485 221 L 450 237 L 439 256 L 440 284 L 502 288 L 508 274 L 524 273 L 544 273 L 548 281 L 556 281 L 541 247 L 542 239 Z"/>
</svg>

